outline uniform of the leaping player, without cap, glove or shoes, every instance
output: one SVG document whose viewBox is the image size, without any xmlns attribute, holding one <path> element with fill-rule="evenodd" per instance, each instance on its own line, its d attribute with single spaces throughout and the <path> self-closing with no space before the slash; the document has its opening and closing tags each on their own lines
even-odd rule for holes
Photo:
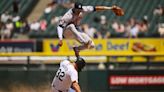
<svg viewBox="0 0 164 92">
<path fill-rule="evenodd" d="M 68 12 L 64 14 L 64 16 L 59 21 L 59 25 L 62 26 L 63 31 L 61 31 L 60 27 L 57 27 L 58 29 L 58 37 L 59 39 L 62 39 L 62 34 L 65 38 L 74 38 L 80 43 L 88 43 L 88 41 L 91 41 L 91 46 L 94 43 L 92 39 L 84 33 L 78 26 L 80 25 L 80 20 L 82 19 L 83 15 L 87 12 L 93 12 L 95 11 L 94 6 L 82 6 L 82 12 L 80 12 L 79 15 L 73 14 L 73 10 L 69 9 Z"/>
</svg>

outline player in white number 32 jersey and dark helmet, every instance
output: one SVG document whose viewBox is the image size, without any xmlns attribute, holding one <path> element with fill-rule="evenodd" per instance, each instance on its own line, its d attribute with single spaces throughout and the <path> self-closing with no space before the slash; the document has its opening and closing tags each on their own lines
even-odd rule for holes
<svg viewBox="0 0 164 92">
<path fill-rule="evenodd" d="M 81 92 L 78 84 L 78 72 L 84 66 L 85 61 L 81 57 L 73 63 L 69 60 L 62 61 L 52 82 L 52 92 L 69 92 L 70 88 L 74 89 L 75 92 Z"/>
</svg>

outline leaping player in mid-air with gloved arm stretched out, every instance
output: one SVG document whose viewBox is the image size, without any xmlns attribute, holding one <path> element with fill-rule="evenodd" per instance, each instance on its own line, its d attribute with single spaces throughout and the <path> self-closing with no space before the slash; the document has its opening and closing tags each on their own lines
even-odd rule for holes
<svg viewBox="0 0 164 92">
<path fill-rule="evenodd" d="M 59 46 L 62 46 L 63 35 L 65 38 L 74 38 L 81 43 L 80 46 L 73 47 L 76 57 L 79 57 L 79 51 L 84 49 L 94 48 L 94 42 L 92 39 L 80 30 L 80 20 L 85 13 L 101 10 L 112 10 L 116 15 L 124 15 L 124 11 L 114 5 L 108 6 L 83 6 L 81 3 L 75 3 L 74 7 L 69 9 L 64 16 L 59 20 L 57 26 L 57 32 L 59 37 Z"/>
</svg>

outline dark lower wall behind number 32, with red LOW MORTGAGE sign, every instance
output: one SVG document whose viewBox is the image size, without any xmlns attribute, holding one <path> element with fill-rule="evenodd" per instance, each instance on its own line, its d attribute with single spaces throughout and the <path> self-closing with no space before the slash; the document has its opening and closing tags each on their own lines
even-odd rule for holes
<svg viewBox="0 0 164 92">
<path fill-rule="evenodd" d="M 0 91 L 50 92 L 55 72 L 55 70 L 0 71 Z M 163 80 L 163 70 L 89 70 L 79 74 L 82 92 L 115 92 L 119 90 L 162 92 L 164 91 Z"/>
</svg>

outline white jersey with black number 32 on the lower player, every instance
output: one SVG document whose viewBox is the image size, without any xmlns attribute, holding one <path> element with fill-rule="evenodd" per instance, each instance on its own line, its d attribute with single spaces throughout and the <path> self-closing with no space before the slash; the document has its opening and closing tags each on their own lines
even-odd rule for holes
<svg viewBox="0 0 164 92">
<path fill-rule="evenodd" d="M 53 79 L 52 92 L 68 92 L 74 81 L 78 82 L 78 72 L 70 61 L 64 60 Z"/>
</svg>

